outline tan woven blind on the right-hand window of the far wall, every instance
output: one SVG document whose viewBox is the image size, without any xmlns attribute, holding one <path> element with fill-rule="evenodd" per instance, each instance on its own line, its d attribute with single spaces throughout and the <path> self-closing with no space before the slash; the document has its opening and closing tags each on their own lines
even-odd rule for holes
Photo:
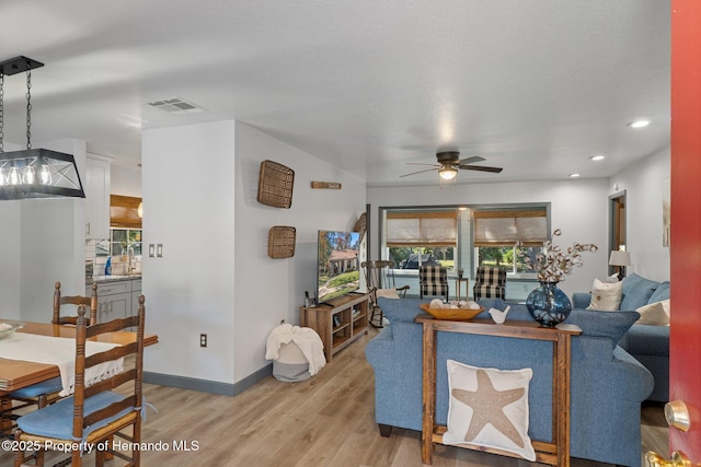
<svg viewBox="0 0 701 467">
<path fill-rule="evenodd" d="M 548 240 L 545 208 L 474 211 L 474 246 L 542 246 Z"/>
</svg>

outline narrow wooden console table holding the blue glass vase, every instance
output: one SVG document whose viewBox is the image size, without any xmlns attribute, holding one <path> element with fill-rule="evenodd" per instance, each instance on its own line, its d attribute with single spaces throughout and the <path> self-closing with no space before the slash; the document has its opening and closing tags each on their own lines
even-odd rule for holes
<svg viewBox="0 0 701 467">
<path fill-rule="evenodd" d="M 552 436 L 550 443 L 533 441 L 536 462 L 560 466 L 570 466 L 570 360 L 572 336 L 582 334 L 575 325 L 560 325 L 558 328 L 544 328 L 536 322 L 506 322 L 494 324 L 491 319 L 451 322 L 435 319 L 430 315 L 418 315 L 414 319 L 424 326 L 424 378 L 423 378 L 423 427 L 422 460 L 433 463 L 434 443 L 444 444 L 443 435 L 447 427 L 436 424 L 436 331 L 476 334 L 484 336 L 512 337 L 516 339 L 549 340 L 553 342 L 552 362 Z M 487 453 L 515 456 L 498 450 L 483 446 L 457 446 L 474 448 Z"/>
</svg>

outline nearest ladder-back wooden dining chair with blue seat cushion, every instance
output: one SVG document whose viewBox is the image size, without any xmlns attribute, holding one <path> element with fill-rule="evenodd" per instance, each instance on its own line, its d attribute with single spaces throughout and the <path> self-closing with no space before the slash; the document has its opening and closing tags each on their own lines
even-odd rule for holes
<svg viewBox="0 0 701 467">
<path fill-rule="evenodd" d="M 20 447 L 44 446 L 55 451 L 70 452 L 70 464 L 81 466 L 84 452 L 71 450 L 83 443 L 95 446 L 95 465 L 102 466 L 107 455 L 128 462 L 129 466 L 140 464 L 138 445 L 141 442 L 142 373 L 143 373 L 143 326 L 146 311 L 143 295 L 139 296 L 139 311 L 135 316 L 117 318 L 107 323 L 88 326 L 85 305 L 78 310 L 76 323 L 76 383 L 72 396 L 43 409 L 20 417 L 14 432 L 14 466 L 20 467 L 31 459 Z M 117 346 L 111 350 L 85 355 L 85 341 L 94 340 L 103 334 L 137 329 L 136 341 Z M 134 360 L 134 367 L 88 386 L 85 371 L 95 365 L 124 358 Z M 116 393 L 112 389 L 122 386 Z M 124 433 L 131 427 L 131 434 Z M 127 440 L 122 445 L 133 445 L 131 456 L 112 450 L 114 436 Z M 23 443 L 26 442 L 26 443 Z M 85 444 L 87 443 L 87 444 Z M 35 454 L 41 453 L 41 450 Z M 42 464 L 36 464 L 42 465 Z M 61 464 L 62 465 L 62 464 Z"/>
</svg>

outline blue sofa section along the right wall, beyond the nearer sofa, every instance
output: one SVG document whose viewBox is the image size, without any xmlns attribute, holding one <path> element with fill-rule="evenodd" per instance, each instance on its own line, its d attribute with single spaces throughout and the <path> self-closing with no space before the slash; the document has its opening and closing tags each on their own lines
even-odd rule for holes
<svg viewBox="0 0 701 467">
<path fill-rule="evenodd" d="M 589 306 L 590 293 L 575 293 L 572 306 Z M 635 311 L 641 306 L 669 300 L 669 282 L 656 282 L 632 273 L 623 279 L 621 311 Z M 669 400 L 669 326 L 634 324 L 619 345 L 641 362 L 655 378 L 655 388 L 647 400 Z"/>
</svg>

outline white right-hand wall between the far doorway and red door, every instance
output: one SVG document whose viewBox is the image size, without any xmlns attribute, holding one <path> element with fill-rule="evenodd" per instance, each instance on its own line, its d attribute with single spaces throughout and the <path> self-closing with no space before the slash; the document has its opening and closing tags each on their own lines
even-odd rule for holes
<svg viewBox="0 0 701 467">
<path fill-rule="evenodd" d="M 662 200 L 669 180 L 669 147 L 619 172 L 610 178 L 610 194 L 625 190 L 628 273 L 669 280 L 669 247 L 662 245 Z M 618 189 L 617 189 L 618 187 Z"/>
</svg>

